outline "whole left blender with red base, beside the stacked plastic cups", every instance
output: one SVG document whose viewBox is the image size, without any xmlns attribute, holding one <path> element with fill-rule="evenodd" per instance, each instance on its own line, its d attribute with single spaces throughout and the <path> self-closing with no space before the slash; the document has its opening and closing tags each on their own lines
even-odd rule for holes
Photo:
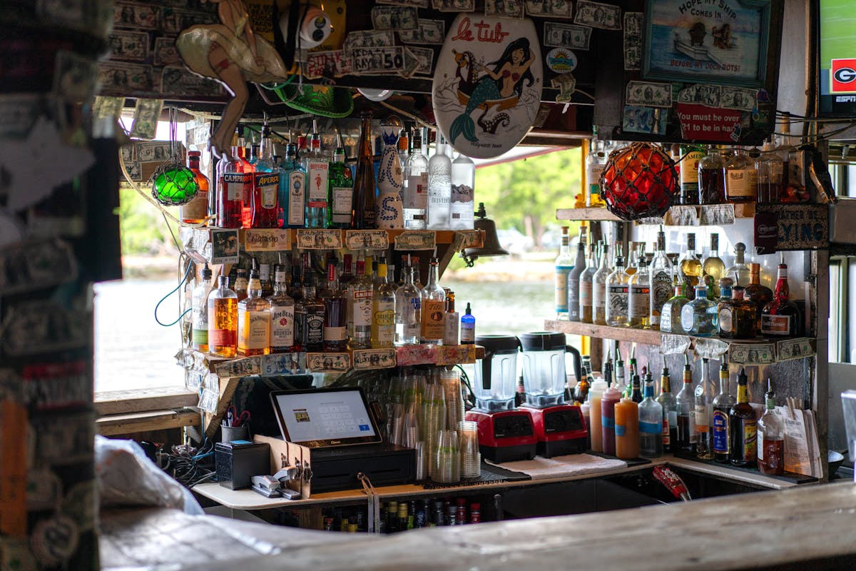
<svg viewBox="0 0 856 571">
<path fill-rule="evenodd" d="M 475 364 L 476 406 L 465 419 L 479 427 L 479 451 L 493 462 L 531 460 L 538 444 L 532 417 L 514 408 L 520 341 L 508 335 L 476 336 L 475 341 L 484 347 L 484 359 Z"/>
</svg>

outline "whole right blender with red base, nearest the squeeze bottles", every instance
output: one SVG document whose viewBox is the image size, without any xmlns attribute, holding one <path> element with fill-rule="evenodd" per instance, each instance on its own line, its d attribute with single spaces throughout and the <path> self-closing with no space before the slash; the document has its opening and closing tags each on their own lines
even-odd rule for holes
<svg viewBox="0 0 856 571">
<path fill-rule="evenodd" d="M 520 336 L 526 402 L 538 437 L 538 455 L 550 458 L 584 452 L 588 430 L 579 406 L 565 404 L 565 356 L 574 357 L 574 375 L 582 372 L 580 352 L 567 345 L 564 333 L 538 331 Z"/>
</svg>

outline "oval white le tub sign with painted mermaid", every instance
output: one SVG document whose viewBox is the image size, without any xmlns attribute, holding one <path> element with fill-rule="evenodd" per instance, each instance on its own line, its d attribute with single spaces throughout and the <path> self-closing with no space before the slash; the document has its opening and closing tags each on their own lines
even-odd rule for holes
<svg viewBox="0 0 856 571">
<path fill-rule="evenodd" d="M 532 21 L 458 15 L 431 88 L 437 127 L 467 157 L 501 155 L 532 128 L 543 79 Z"/>
</svg>

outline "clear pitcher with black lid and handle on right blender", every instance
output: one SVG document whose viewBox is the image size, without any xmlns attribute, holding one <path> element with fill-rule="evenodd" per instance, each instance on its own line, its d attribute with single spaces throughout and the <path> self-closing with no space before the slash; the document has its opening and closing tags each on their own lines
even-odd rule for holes
<svg viewBox="0 0 856 571">
<path fill-rule="evenodd" d="M 565 401 L 565 355 L 574 357 L 574 375 L 580 378 L 580 352 L 567 345 L 564 333 L 537 331 L 520 336 L 526 404 L 546 408 Z"/>
</svg>

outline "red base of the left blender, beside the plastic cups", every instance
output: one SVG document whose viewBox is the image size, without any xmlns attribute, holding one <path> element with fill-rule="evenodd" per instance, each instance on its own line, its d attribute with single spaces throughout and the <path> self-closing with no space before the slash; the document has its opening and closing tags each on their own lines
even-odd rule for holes
<svg viewBox="0 0 856 571">
<path fill-rule="evenodd" d="M 485 460 L 501 464 L 535 457 L 538 437 L 528 411 L 486 413 L 473 409 L 464 418 L 479 426 L 479 452 Z"/>
</svg>

